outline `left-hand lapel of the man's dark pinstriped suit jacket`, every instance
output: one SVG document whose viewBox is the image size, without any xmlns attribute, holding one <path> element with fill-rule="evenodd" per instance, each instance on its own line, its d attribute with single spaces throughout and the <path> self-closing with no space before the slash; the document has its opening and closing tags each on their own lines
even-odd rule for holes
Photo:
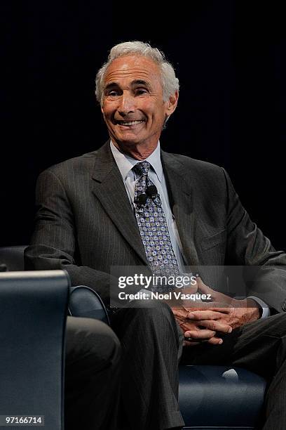
<svg viewBox="0 0 286 430">
<path fill-rule="evenodd" d="M 125 240 L 148 266 L 147 256 L 121 173 L 112 156 L 109 141 L 97 152 L 93 171 L 93 193 Z"/>
</svg>

